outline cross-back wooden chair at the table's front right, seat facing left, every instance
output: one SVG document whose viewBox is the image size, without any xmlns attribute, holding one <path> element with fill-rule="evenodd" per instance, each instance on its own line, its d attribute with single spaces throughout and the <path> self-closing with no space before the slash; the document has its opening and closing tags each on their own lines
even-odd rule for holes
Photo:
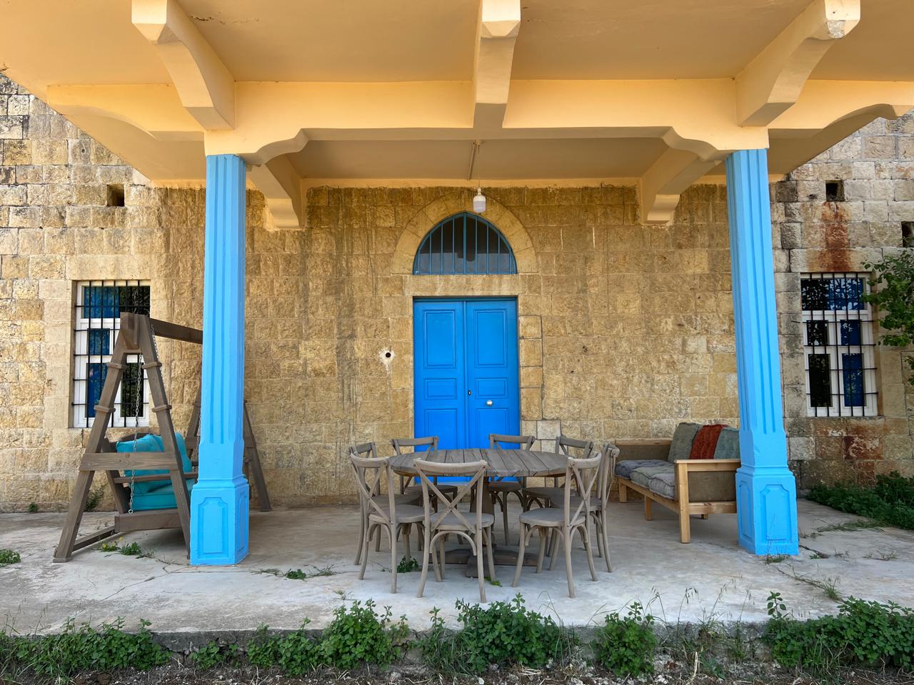
<svg viewBox="0 0 914 685">
<path fill-rule="evenodd" d="M 590 551 L 590 502 L 594 485 L 600 475 L 602 455 L 597 452 L 596 457 L 576 459 L 568 458 L 565 468 L 565 486 L 562 506 L 540 507 L 524 511 L 520 515 L 520 543 L 517 550 L 517 567 L 513 586 L 520 582 L 521 569 L 524 566 L 524 553 L 526 543 L 535 530 L 539 530 L 539 553 L 537 554 L 537 574 L 543 569 L 543 556 L 546 552 L 547 533 L 552 534 L 549 570 L 556 563 L 558 542 L 561 541 L 565 550 L 565 573 L 569 581 L 569 597 L 574 596 L 574 576 L 571 570 L 571 540 L 574 533 L 578 532 L 584 543 L 587 553 L 587 564 L 590 567 L 590 577 L 597 580 L 597 572 L 593 567 L 593 554 Z M 577 489 L 575 488 L 577 484 Z M 572 494 L 572 490 L 577 490 Z"/>
</svg>

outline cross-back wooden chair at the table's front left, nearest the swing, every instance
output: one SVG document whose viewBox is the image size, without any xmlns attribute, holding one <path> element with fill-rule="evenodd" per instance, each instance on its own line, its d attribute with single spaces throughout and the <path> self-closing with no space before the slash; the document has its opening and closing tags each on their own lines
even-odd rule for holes
<svg viewBox="0 0 914 685">
<path fill-rule="evenodd" d="M 364 450 L 374 451 L 374 444 L 368 443 L 371 449 Z M 356 446 L 349 452 L 349 461 L 352 464 L 353 473 L 356 477 L 356 488 L 358 489 L 358 499 L 362 511 L 362 533 L 361 533 L 361 557 L 362 567 L 358 572 L 358 579 L 365 579 L 365 569 L 368 564 L 368 543 L 373 533 L 377 532 L 377 538 L 380 540 L 381 530 L 387 531 L 390 539 L 390 592 L 397 592 L 397 565 L 399 558 L 397 553 L 397 539 L 400 532 L 406 541 L 406 556 L 410 557 L 409 551 L 409 532 L 412 526 L 422 525 L 424 511 L 415 504 L 398 504 L 394 489 L 390 487 L 393 483 L 394 472 L 390 468 L 390 458 L 377 457 L 360 457 L 356 453 L 357 448 L 365 448 L 366 445 Z M 381 482 L 387 480 L 388 494 L 381 495 Z"/>
</svg>

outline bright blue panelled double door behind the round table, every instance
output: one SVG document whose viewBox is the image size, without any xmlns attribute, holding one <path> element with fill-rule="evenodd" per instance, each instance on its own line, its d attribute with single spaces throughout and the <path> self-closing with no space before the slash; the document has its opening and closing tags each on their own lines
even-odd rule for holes
<svg viewBox="0 0 914 685">
<path fill-rule="evenodd" d="M 441 449 L 520 433 L 517 300 L 415 300 L 415 435 Z"/>
</svg>

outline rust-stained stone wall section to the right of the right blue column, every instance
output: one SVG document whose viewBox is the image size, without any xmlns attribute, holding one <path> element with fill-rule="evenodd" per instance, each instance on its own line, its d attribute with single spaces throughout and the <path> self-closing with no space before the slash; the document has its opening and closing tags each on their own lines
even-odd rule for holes
<svg viewBox="0 0 914 685">
<path fill-rule="evenodd" d="M 834 180 L 844 182 L 844 201 L 825 200 Z M 914 386 L 902 352 L 877 351 L 879 416 L 808 418 L 798 322 L 802 272 L 866 271 L 902 248 L 901 222 L 914 221 L 914 113 L 873 121 L 775 184 L 772 199 L 784 413 L 799 484 L 914 475 Z"/>
</svg>

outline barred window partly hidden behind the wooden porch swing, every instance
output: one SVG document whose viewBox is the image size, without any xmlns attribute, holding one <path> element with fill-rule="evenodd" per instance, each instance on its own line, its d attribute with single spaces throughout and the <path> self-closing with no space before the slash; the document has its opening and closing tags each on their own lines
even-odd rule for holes
<svg viewBox="0 0 914 685">
<path fill-rule="evenodd" d="M 87 280 L 76 285 L 73 331 L 73 427 L 90 427 L 108 374 L 121 313 L 149 314 L 149 284 L 139 280 Z M 149 385 L 143 356 L 129 354 L 114 398 L 112 426 L 149 425 Z"/>
</svg>

